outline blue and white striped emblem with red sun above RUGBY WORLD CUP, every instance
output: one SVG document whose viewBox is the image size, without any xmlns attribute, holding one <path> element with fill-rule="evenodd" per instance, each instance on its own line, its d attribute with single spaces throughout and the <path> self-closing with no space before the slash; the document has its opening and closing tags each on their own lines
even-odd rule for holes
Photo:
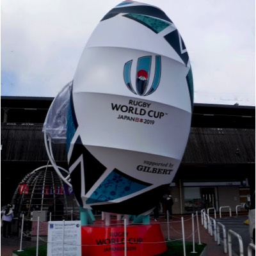
<svg viewBox="0 0 256 256">
<path fill-rule="evenodd" d="M 143 56 L 138 58 L 136 67 L 136 86 L 132 86 L 131 83 L 131 67 L 132 60 L 127 61 L 124 65 L 124 81 L 127 88 L 134 94 L 140 96 L 147 96 L 155 92 L 161 77 L 161 56 L 156 56 L 155 61 L 155 72 L 154 79 L 151 86 L 148 86 L 148 81 L 150 78 L 150 71 L 152 65 L 152 56 Z"/>
</svg>

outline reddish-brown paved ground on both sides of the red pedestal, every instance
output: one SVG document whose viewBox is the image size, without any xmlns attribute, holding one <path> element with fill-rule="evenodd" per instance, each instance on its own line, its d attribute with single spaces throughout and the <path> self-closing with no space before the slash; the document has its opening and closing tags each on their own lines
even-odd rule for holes
<svg viewBox="0 0 256 256">
<path fill-rule="evenodd" d="M 193 241 L 193 232 L 192 232 L 192 218 L 191 216 L 183 216 L 184 220 L 184 234 L 185 234 L 185 241 Z M 151 220 L 154 221 L 154 220 Z M 164 238 L 166 239 L 180 239 L 182 240 L 182 218 L 181 216 L 174 216 L 173 220 L 170 220 L 169 230 L 168 230 L 168 223 L 164 220 L 163 217 L 159 218 L 157 221 L 160 223 L 161 228 L 163 230 Z M 204 256 L 222 256 L 228 255 L 228 253 L 224 253 L 223 243 L 218 245 L 216 241 L 214 241 L 214 236 L 209 234 L 208 230 L 204 228 L 201 223 L 201 217 L 198 216 L 198 223 L 199 223 L 199 236 L 198 236 L 198 229 L 196 224 L 196 218 L 194 221 L 194 228 L 195 228 L 195 243 L 205 243 L 207 244 L 204 250 Z M 246 227 L 245 227 L 246 228 Z M 200 237 L 200 238 L 199 238 Z M 45 243 L 40 241 L 40 244 Z M 22 248 L 36 246 L 36 241 L 22 241 Z M 10 238 L 3 238 L 1 236 L 1 256 L 12 256 L 13 250 L 20 249 L 20 238 L 17 236 L 10 237 Z M 196 254 L 195 254 L 196 255 Z M 247 247 L 244 248 L 244 256 L 247 255 Z M 172 255 L 175 256 L 175 255 Z"/>
</svg>

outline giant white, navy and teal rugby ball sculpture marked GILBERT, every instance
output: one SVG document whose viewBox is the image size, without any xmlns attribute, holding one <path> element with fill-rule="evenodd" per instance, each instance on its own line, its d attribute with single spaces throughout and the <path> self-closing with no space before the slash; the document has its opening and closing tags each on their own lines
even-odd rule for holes
<svg viewBox="0 0 256 256">
<path fill-rule="evenodd" d="M 166 14 L 124 1 L 84 48 L 67 111 L 67 152 L 78 204 L 146 215 L 175 176 L 188 141 L 193 77 Z"/>
</svg>

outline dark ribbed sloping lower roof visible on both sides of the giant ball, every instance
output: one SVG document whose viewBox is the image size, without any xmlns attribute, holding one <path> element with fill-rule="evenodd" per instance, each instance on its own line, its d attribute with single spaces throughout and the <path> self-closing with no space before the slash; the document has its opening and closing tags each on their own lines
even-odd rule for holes
<svg viewBox="0 0 256 256">
<path fill-rule="evenodd" d="M 1 124 L 1 161 L 48 161 L 42 124 Z M 65 144 L 52 144 L 67 161 Z M 255 129 L 191 127 L 183 164 L 255 163 Z"/>
</svg>

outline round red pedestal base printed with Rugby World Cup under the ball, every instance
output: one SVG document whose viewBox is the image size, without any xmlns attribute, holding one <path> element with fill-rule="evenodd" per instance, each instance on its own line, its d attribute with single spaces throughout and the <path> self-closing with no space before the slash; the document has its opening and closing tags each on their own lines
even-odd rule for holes
<svg viewBox="0 0 256 256">
<path fill-rule="evenodd" d="M 123 256 L 125 250 L 124 225 L 83 226 L 83 256 Z M 153 256 L 167 250 L 158 223 L 128 225 L 126 227 L 127 256 Z"/>
</svg>

